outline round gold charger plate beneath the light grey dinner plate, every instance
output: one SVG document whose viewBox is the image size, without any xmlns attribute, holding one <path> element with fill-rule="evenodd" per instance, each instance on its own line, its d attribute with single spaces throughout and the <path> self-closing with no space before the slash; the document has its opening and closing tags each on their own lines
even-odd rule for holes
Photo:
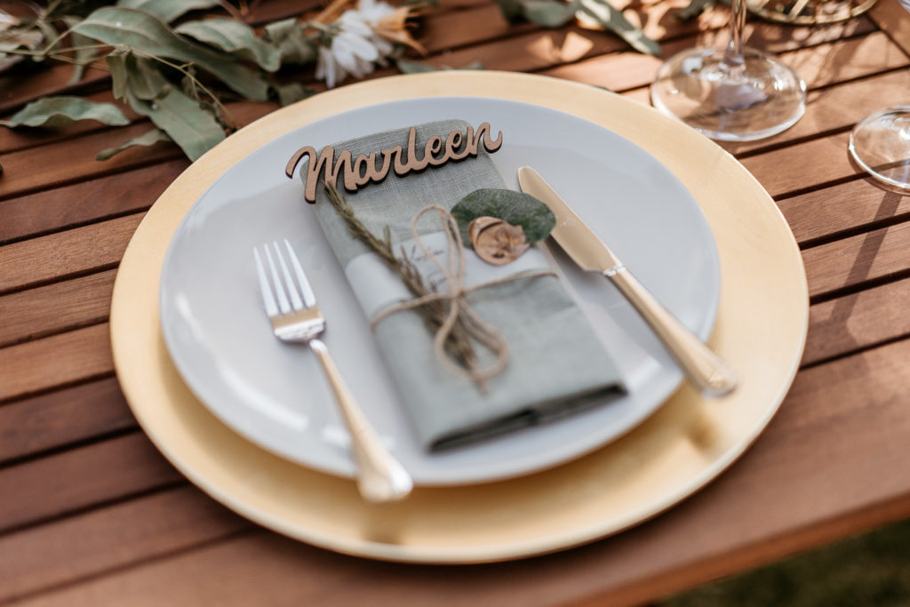
<svg viewBox="0 0 910 607">
<path fill-rule="evenodd" d="M 486 96 L 547 106 L 647 150 L 689 188 L 713 230 L 721 299 L 711 346 L 742 385 L 721 401 L 683 385 L 635 430 L 580 460 L 509 481 L 418 488 L 370 505 L 353 481 L 283 460 L 218 421 L 168 356 L 158 285 L 189 207 L 229 167 L 293 128 L 341 111 L 424 96 Z M 117 377 L 157 448 L 203 491 L 252 521 L 360 556 L 501 561 L 558 551 L 651 518 L 739 457 L 794 379 L 808 323 L 802 258 L 783 216 L 732 156 L 682 123 L 600 89 L 497 72 L 393 76 L 335 89 L 265 116 L 198 159 L 148 211 L 126 248 L 111 304 Z"/>
</svg>

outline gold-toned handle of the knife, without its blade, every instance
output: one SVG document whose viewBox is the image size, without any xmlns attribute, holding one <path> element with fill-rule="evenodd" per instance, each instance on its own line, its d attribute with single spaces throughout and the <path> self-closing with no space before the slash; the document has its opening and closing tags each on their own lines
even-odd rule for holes
<svg viewBox="0 0 910 607">
<path fill-rule="evenodd" d="M 603 273 L 651 326 L 696 388 L 722 397 L 736 388 L 736 374 L 701 339 L 677 320 L 624 266 Z"/>
</svg>

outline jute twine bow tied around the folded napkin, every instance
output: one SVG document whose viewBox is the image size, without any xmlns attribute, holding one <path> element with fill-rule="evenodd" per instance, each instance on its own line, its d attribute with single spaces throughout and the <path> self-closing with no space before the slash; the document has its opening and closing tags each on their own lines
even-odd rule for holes
<svg viewBox="0 0 910 607">
<path fill-rule="evenodd" d="M 423 244 L 423 241 L 420 239 L 420 234 L 418 234 L 417 231 L 417 224 L 420 221 L 420 218 L 430 211 L 439 213 L 440 220 L 442 221 L 442 227 L 446 235 L 446 242 L 450 252 L 448 268 L 445 268 L 442 265 L 440 258 Z M 449 287 L 449 292 L 433 292 L 419 298 L 402 301 L 399 304 L 384 309 L 370 321 L 370 329 L 375 329 L 376 325 L 379 324 L 379 321 L 397 312 L 418 308 L 433 301 L 447 300 L 449 302 L 449 313 L 442 322 L 440 328 L 436 331 L 436 335 L 433 337 L 433 351 L 444 368 L 449 369 L 451 373 L 463 378 L 471 379 L 482 386 L 487 379 L 495 377 L 501 373 L 502 369 L 505 369 L 506 363 L 509 361 L 509 345 L 506 343 L 506 340 L 502 338 L 499 331 L 490 327 L 490 325 L 484 322 L 484 320 L 480 318 L 480 315 L 470 307 L 466 296 L 481 288 L 501 285 L 506 282 L 511 282 L 512 280 L 520 280 L 521 278 L 555 276 L 555 273 L 551 270 L 526 270 L 503 278 L 489 280 L 480 283 L 479 285 L 474 285 L 473 287 L 465 287 L 464 243 L 461 240 L 458 222 L 446 208 L 440 207 L 439 205 L 432 205 L 422 209 L 411 221 L 410 233 L 414 237 L 414 242 L 420 247 L 420 250 L 423 251 L 427 258 L 429 258 L 436 267 L 440 269 L 440 272 L 442 272 L 442 276 L 445 278 L 446 284 Z M 453 362 L 446 354 L 446 340 L 449 339 L 452 329 L 459 321 L 471 339 L 478 341 L 495 356 L 495 359 L 493 359 L 487 367 L 478 368 L 471 366 L 469 369 L 464 369 Z"/>
</svg>

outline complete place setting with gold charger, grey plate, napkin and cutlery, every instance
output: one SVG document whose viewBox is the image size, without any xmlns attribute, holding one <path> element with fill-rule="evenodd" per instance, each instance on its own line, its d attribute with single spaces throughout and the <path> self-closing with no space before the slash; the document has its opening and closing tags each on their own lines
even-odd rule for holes
<svg viewBox="0 0 910 607">
<path fill-rule="evenodd" d="M 126 400 L 190 481 L 420 562 L 682 501 L 771 420 L 806 324 L 793 235 L 733 157 L 496 72 L 345 86 L 228 137 L 149 210 L 111 309 Z"/>
</svg>

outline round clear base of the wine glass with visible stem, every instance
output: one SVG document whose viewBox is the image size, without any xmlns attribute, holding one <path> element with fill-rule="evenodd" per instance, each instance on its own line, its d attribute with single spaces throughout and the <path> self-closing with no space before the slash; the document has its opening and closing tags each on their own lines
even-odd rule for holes
<svg viewBox="0 0 910 607">
<path fill-rule="evenodd" d="M 713 139 L 751 141 L 794 126 L 805 111 L 805 82 L 773 56 L 743 48 L 741 63 L 720 48 L 672 56 L 651 85 L 651 102 Z"/>
</svg>

